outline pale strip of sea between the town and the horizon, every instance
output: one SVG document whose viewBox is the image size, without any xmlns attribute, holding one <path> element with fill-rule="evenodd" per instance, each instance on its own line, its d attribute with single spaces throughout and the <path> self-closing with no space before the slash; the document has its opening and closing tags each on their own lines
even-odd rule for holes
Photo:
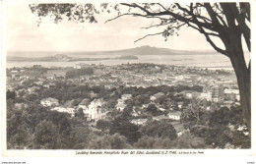
<svg viewBox="0 0 256 164">
<path fill-rule="evenodd" d="M 16 57 L 46 57 L 53 56 L 56 54 L 65 54 L 71 57 L 81 57 L 81 58 L 114 58 L 120 55 L 87 55 L 83 53 L 74 52 L 9 52 L 7 56 Z M 110 60 L 97 60 L 97 61 L 74 61 L 74 62 L 17 62 L 17 61 L 7 61 L 6 67 L 30 67 L 33 65 L 41 65 L 42 67 L 74 67 L 76 64 L 86 63 L 86 64 L 102 64 L 107 66 L 121 65 L 121 64 L 132 64 L 132 63 L 153 63 L 153 64 L 163 64 L 163 65 L 175 65 L 175 66 L 187 66 L 187 67 L 199 67 L 208 68 L 212 70 L 232 70 L 231 63 L 227 57 L 222 54 L 211 54 L 211 55 L 138 55 L 138 60 L 127 60 L 127 59 L 110 59 Z M 248 63 L 250 56 L 245 53 L 245 60 Z"/>
</svg>

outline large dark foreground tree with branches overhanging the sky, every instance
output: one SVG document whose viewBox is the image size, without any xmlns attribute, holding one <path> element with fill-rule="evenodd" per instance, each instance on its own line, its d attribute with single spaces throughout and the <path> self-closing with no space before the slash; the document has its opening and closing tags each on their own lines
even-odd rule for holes
<svg viewBox="0 0 256 164">
<path fill-rule="evenodd" d="M 67 17 L 76 23 L 96 23 L 95 14 L 98 14 L 93 4 L 35 4 L 30 6 L 41 21 L 42 17 L 51 16 L 55 23 Z M 244 59 L 244 48 L 242 39 L 245 40 L 247 49 L 251 51 L 250 45 L 250 3 L 190 3 L 180 5 L 173 3 L 163 6 L 160 3 L 121 3 L 116 5 L 101 4 L 101 9 L 110 12 L 117 11 L 117 16 L 111 20 L 123 16 L 142 17 L 145 19 L 159 20 L 160 32 L 150 33 L 136 41 L 153 35 L 162 35 L 167 38 L 177 34 L 181 27 L 191 27 L 202 33 L 209 44 L 219 53 L 228 57 L 236 75 L 239 86 L 241 105 L 243 107 L 243 121 L 250 129 L 251 123 L 251 62 L 248 67 Z M 128 8 L 128 12 L 122 13 L 120 8 Z M 107 22 L 108 22 L 107 21 Z M 218 46 L 213 38 L 223 42 L 224 48 Z"/>
</svg>

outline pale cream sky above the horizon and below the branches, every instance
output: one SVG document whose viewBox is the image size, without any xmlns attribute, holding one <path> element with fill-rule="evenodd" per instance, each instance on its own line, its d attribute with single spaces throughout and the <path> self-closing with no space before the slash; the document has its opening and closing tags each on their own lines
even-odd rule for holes
<svg viewBox="0 0 256 164">
<path fill-rule="evenodd" d="M 134 43 L 146 34 L 160 31 L 160 28 L 143 29 L 153 25 L 154 21 L 128 16 L 104 24 L 113 17 L 113 14 L 99 15 L 97 24 L 75 24 L 69 21 L 54 24 L 45 18 L 37 27 L 38 19 L 32 14 L 29 4 L 9 3 L 6 6 L 6 50 L 105 51 L 143 45 L 180 50 L 213 50 L 202 34 L 189 27 L 182 28 L 179 36 L 171 36 L 167 41 L 158 35 Z"/>
</svg>

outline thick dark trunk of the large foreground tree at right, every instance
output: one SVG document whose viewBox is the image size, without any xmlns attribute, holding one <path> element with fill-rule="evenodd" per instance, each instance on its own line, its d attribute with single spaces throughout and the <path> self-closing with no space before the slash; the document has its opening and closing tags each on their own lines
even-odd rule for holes
<svg viewBox="0 0 256 164">
<path fill-rule="evenodd" d="M 251 134 L 251 74 L 244 60 L 241 37 L 235 37 L 233 40 L 232 44 L 226 47 L 226 50 L 239 87 L 243 122 Z"/>
</svg>

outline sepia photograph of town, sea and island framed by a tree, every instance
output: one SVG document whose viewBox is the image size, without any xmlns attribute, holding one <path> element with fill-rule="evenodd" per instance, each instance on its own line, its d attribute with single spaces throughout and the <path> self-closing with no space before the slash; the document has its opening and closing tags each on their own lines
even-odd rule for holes
<svg viewBox="0 0 256 164">
<path fill-rule="evenodd" d="M 253 5 L 5 3 L 2 148 L 252 149 Z"/>
</svg>

